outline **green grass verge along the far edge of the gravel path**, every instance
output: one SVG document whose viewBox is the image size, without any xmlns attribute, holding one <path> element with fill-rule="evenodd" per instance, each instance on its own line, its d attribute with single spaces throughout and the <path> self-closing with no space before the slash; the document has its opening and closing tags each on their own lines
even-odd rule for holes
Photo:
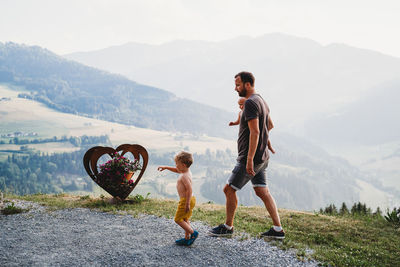
<svg viewBox="0 0 400 267">
<path fill-rule="evenodd" d="M 150 214 L 172 219 L 177 202 L 149 199 L 141 195 L 128 198 L 128 203 L 111 204 L 101 196 L 27 195 L 7 196 L 38 202 L 50 209 L 90 208 L 104 212 L 125 213 L 133 216 Z M 382 217 L 328 216 L 308 212 L 279 210 L 286 238 L 271 241 L 281 249 L 294 248 L 300 259 L 315 259 L 332 266 L 400 266 L 400 229 Z M 262 207 L 238 207 L 235 233 L 257 237 L 272 223 Z M 225 220 L 225 206 L 211 203 L 197 204 L 193 221 L 210 226 Z"/>
</svg>

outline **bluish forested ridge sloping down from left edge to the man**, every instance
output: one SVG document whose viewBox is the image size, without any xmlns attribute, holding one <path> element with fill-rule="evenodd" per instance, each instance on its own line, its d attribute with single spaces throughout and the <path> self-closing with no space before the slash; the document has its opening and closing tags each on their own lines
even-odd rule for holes
<svg viewBox="0 0 400 267">
<path fill-rule="evenodd" d="M 224 127 L 233 113 L 84 66 L 37 46 L 0 43 L 0 82 L 24 86 L 30 91 L 25 97 L 63 112 L 155 130 L 234 136 Z M 207 123 L 210 117 L 215 122 L 212 127 Z"/>
</svg>

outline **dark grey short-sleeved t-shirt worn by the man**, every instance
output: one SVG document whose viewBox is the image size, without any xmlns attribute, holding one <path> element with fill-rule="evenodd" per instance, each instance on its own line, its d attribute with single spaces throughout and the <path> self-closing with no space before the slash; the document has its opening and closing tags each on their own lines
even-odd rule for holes
<svg viewBox="0 0 400 267">
<path fill-rule="evenodd" d="M 243 163 L 247 161 L 247 153 L 249 152 L 250 129 L 248 121 L 258 118 L 258 127 L 260 136 L 256 154 L 254 155 L 254 163 L 262 163 L 269 159 L 268 153 L 268 116 L 269 107 L 259 94 L 251 95 L 244 103 L 242 117 L 240 118 L 239 138 L 238 138 L 238 158 Z"/>
</svg>

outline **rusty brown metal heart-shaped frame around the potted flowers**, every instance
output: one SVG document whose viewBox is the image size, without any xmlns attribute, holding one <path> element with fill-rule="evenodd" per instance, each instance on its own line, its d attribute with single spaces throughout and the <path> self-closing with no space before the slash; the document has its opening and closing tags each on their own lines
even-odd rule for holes
<svg viewBox="0 0 400 267">
<path fill-rule="evenodd" d="M 113 184 L 110 182 L 106 182 L 102 176 L 99 175 L 98 171 L 98 160 L 103 155 L 109 155 L 110 158 L 115 156 L 115 153 L 123 156 L 126 153 L 132 153 L 133 157 L 140 161 L 142 160 L 142 168 L 140 170 L 139 176 L 136 178 L 135 182 L 132 184 L 120 183 L 116 181 Z M 149 161 L 149 155 L 144 147 L 136 144 L 123 144 L 118 146 L 116 149 L 111 147 L 102 147 L 95 146 L 86 151 L 83 156 L 83 166 L 85 167 L 86 172 L 89 176 L 95 181 L 101 188 L 107 191 L 113 197 L 119 197 L 121 200 L 124 200 L 129 196 L 133 189 L 135 189 L 136 185 L 139 183 L 142 178 L 144 171 L 146 170 L 147 163 Z"/>
</svg>

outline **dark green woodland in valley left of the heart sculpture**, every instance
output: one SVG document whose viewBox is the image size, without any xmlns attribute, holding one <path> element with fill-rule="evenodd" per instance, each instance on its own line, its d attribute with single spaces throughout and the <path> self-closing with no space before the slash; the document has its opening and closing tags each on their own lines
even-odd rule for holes
<svg viewBox="0 0 400 267">
<path fill-rule="evenodd" d="M 35 140 L 30 142 L 35 143 Z M 71 153 L 51 155 L 34 151 L 29 151 L 28 155 L 12 152 L 6 161 L 0 162 L 0 190 L 19 195 L 77 190 L 91 192 L 93 182 L 83 167 L 83 155 L 90 146 L 110 144 L 108 136 L 63 136 L 43 140 L 67 140 L 82 148 Z M 13 142 L 20 143 L 18 138 L 14 138 Z"/>
</svg>

